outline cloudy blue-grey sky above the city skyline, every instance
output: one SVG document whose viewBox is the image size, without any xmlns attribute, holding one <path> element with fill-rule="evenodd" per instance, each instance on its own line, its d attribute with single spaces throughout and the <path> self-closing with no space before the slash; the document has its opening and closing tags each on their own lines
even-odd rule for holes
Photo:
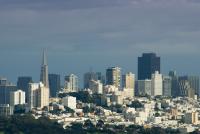
<svg viewBox="0 0 200 134">
<path fill-rule="evenodd" d="M 199 14 L 199 0 L 0 0 L 0 75 L 38 81 L 43 49 L 62 76 L 137 74 L 143 52 L 161 56 L 162 73 L 199 75 Z"/>
</svg>

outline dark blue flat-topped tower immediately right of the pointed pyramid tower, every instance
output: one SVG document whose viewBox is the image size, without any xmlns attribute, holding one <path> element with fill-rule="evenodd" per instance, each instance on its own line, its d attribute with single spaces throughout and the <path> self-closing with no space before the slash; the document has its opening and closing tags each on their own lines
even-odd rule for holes
<svg viewBox="0 0 200 134">
<path fill-rule="evenodd" d="M 56 97 L 57 93 L 60 91 L 60 75 L 49 74 L 49 90 L 50 96 Z"/>
</svg>

